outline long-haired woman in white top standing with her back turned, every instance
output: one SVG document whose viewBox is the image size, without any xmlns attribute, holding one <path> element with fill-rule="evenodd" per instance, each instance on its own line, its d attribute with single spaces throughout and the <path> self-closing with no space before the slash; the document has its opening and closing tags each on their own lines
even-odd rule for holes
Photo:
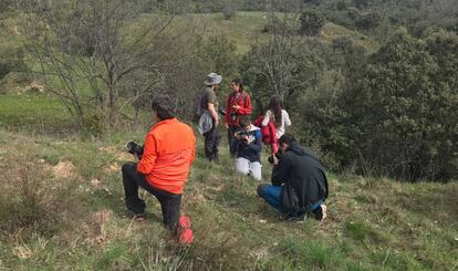
<svg viewBox="0 0 458 271">
<path fill-rule="evenodd" d="M 290 115 L 283 110 L 283 101 L 279 95 L 273 95 L 270 98 L 269 110 L 266 112 L 262 126 L 268 126 L 269 122 L 274 124 L 277 131 L 277 140 L 271 143 L 272 154 L 277 154 L 279 150 L 278 139 L 284 134 L 287 126 L 291 126 Z"/>
</svg>

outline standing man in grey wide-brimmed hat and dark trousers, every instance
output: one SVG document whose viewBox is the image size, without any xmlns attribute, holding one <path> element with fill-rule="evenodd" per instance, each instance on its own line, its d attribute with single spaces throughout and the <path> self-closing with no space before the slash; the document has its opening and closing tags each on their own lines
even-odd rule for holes
<svg viewBox="0 0 458 271">
<path fill-rule="evenodd" d="M 211 117 L 211 128 L 204 133 L 205 137 L 205 156 L 210 160 L 218 160 L 218 145 L 221 136 L 219 135 L 218 124 L 218 98 L 216 91 L 222 81 L 222 76 L 216 73 L 210 73 L 204 81 L 206 85 L 200 93 L 200 108 L 202 111 L 201 117 Z M 201 122 L 199 122 L 201 124 Z M 204 129 L 204 127 L 200 127 Z"/>
</svg>

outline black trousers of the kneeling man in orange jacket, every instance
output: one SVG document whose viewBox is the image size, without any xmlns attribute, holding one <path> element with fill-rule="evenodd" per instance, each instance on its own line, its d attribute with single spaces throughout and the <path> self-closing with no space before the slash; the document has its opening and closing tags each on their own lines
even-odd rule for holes
<svg viewBox="0 0 458 271">
<path fill-rule="evenodd" d="M 145 201 L 138 198 L 138 187 L 142 187 L 157 198 L 163 210 L 164 223 L 170 229 L 175 229 L 179 220 L 181 194 L 173 194 L 150 186 L 145 176 L 137 173 L 136 163 L 124 164 L 122 171 L 127 209 L 136 215 L 145 211 Z"/>
</svg>

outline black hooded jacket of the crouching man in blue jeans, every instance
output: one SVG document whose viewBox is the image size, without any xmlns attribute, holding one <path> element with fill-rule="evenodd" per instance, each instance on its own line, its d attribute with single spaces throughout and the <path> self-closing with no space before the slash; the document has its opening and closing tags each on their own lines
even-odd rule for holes
<svg viewBox="0 0 458 271">
<path fill-rule="evenodd" d="M 310 211 L 308 207 L 327 198 L 327 179 L 316 155 L 293 142 L 273 167 L 272 184 L 283 185 L 283 208 L 290 212 Z"/>
</svg>

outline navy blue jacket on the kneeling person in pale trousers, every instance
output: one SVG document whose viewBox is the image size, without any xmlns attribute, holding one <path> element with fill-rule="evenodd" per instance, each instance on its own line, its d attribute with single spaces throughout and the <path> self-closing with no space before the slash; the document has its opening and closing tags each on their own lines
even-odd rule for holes
<svg viewBox="0 0 458 271">
<path fill-rule="evenodd" d="M 261 129 L 251 124 L 248 131 L 250 144 L 239 140 L 237 146 L 237 158 L 243 157 L 250 161 L 261 161 L 262 136 Z"/>
</svg>

